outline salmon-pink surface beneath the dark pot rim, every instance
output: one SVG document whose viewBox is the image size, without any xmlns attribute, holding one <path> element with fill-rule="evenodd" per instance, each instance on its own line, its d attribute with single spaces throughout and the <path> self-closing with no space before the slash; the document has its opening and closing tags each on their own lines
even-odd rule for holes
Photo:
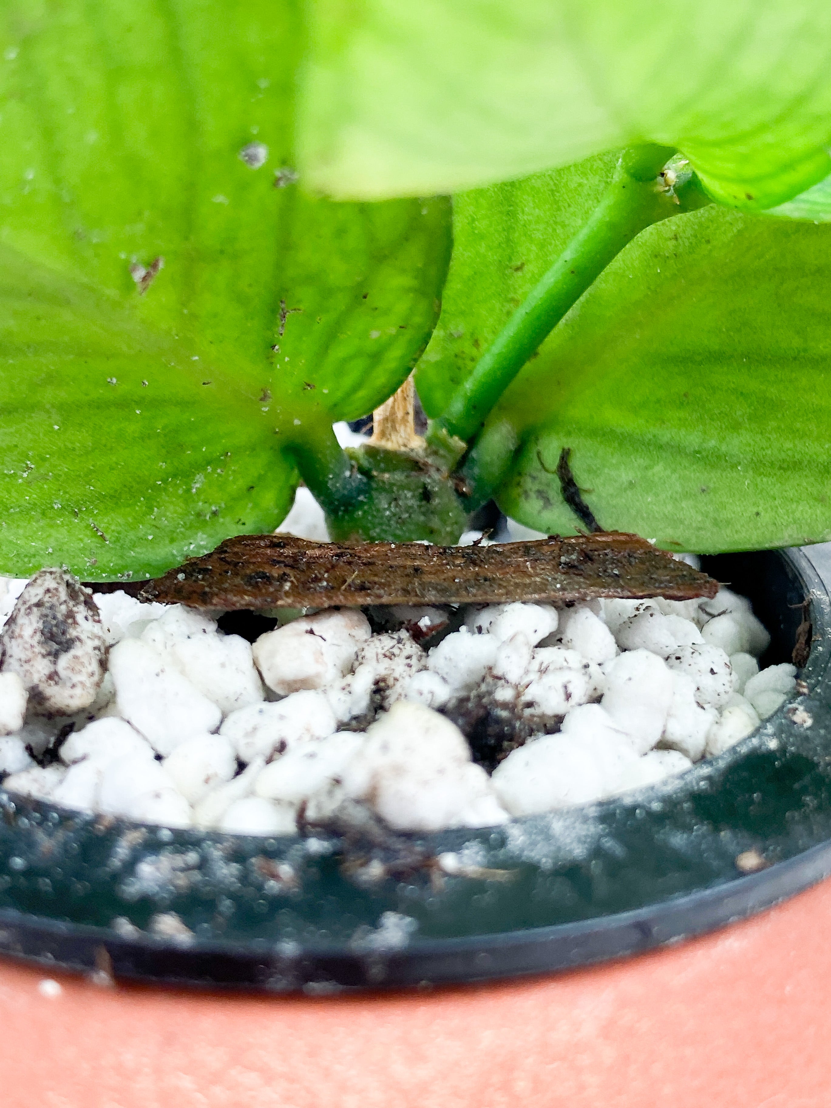
<svg viewBox="0 0 831 1108">
<path fill-rule="evenodd" d="M 565 976 L 259 999 L 0 966 L 3 1108 L 829 1108 L 831 882 Z"/>
</svg>

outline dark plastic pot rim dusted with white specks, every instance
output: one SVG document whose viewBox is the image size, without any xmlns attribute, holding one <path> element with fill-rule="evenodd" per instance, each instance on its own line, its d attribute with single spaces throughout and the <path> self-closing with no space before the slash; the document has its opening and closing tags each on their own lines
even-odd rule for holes
<svg viewBox="0 0 831 1108">
<path fill-rule="evenodd" d="M 447 876 L 437 888 L 413 871 L 362 884 L 337 839 L 170 831 L 0 790 L 0 952 L 145 982 L 316 995 L 583 965 L 804 889 L 831 873 L 831 554 L 725 555 L 705 568 L 753 601 L 772 633 L 765 664 L 790 659 L 809 602 L 808 691 L 635 801 L 417 840 L 507 880 Z M 161 925 L 181 933 L 152 934 L 160 913 L 175 913 Z"/>
</svg>

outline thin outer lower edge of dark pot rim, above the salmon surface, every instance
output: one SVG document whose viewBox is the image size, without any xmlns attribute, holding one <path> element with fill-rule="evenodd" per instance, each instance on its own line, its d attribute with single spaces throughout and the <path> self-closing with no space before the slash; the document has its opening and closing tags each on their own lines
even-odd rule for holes
<svg viewBox="0 0 831 1108">
<path fill-rule="evenodd" d="M 349 953 L 304 948 L 252 950 L 244 944 L 171 945 L 150 936 L 68 925 L 0 911 L 0 952 L 43 970 L 90 975 L 106 983 L 203 992 L 307 996 L 425 987 L 541 976 L 675 945 L 745 920 L 831 876 L 831 842 L 724 885 L 553 927 L 411 942 L 400 950 Z"/>
</svg>

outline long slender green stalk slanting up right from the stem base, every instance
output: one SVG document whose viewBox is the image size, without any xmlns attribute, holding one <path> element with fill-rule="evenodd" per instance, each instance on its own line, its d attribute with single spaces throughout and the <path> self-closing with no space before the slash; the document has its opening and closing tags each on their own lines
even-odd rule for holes
<svg viewBox="0 0 831 1108">
<path fill-rule="evenodd" d="M 675 192 L 659 178 L 673 153 L 669 147 L 654 145 L 623 153 L 615 177 L 588 222 L 456 389 L 442 416 L 433 421 L 430 439 L 452 437 L 470 442 L 529 358 L 627 243 L 650 224 L 706 202 L 695 183 L 688 187 L 689 174 Z M 695 195 L 683 195 L 687 192 Z"/>
</svg>

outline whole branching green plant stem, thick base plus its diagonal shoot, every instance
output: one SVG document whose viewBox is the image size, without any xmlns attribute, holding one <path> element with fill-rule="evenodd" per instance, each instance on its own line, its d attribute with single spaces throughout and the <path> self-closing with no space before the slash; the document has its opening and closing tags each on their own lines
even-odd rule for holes
<svg viewBox="0 0 831 1108">
<path fill-rule="evenodd" d="M 531 355 L 639 232 L 709 203 L 689 172 L 679 173 L 676 166 L 661 175 L 671 154 L 665 146 L 624 152 L 588 222 L 514 312 L 443 414 L 431 422 L 422 460 L 431 463 L 427 469 L 417 460 L 391 463 L 386 458 L 389 452 L 381 451 L 375 460 L 363 458 L 359 462 L 363 472 L 359 471 L 317 412 L 299 428 L 294 420 L 291 429 L 285 429 L 285 449 L 324 506 L 335 537 L 431 542 L 458 537 L 464 513 L 488 500 L 511 466 L 517 448 L 513 428 L 503 421 L 480 432 Z M 476 438 L 462 468 L 470 490 L 462 506 L 447 474 Z"/>
</svg>

